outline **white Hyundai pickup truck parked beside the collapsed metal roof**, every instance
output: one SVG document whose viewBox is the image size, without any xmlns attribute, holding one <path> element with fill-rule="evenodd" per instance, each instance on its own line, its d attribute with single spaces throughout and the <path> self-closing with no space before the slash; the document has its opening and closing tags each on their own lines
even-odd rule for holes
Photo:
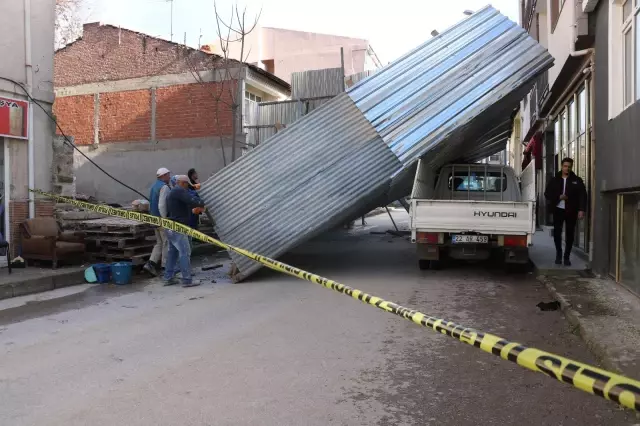
<svg viewBox="0 0 640 426">
<path fill-rule="evenodd" d="M 410 206 L 420 269 L 438 269 L 447 256 L 487 260 L 493 255 L 506 263 L 528 263 L 535 232 L 534 176 L 533 166 L 527 168 L 521 190 L 507 166 L 451 164 L 436 175 L 420 162 Z"/>
</svg>

